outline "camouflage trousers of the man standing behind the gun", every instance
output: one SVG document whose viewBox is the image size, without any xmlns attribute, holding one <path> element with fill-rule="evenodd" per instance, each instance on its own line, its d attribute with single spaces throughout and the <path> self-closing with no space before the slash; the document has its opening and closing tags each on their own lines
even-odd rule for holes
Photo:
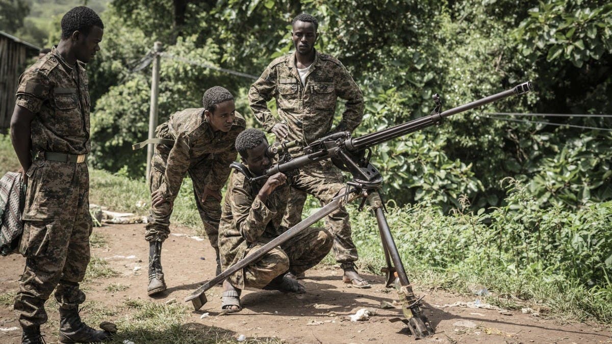
<svg viewBox="0 0 612 344">
<path fill-rule="evenodd" d="M 300 168 L 294 178 L 291 198 L 287 203 L 283 225 L 291 228 L 302 221 L 307 194 L 315 196 L 321 204 L 329 203 L 340 192 L 343 176 L 330 160 L 321 160 Z M 327 215 L 325 226 L 334 234 L 334 256 L 338 263 L 357 260 L 357 247 L 351 237 L 351 223 L 344 207 Z"/>
</svg>

